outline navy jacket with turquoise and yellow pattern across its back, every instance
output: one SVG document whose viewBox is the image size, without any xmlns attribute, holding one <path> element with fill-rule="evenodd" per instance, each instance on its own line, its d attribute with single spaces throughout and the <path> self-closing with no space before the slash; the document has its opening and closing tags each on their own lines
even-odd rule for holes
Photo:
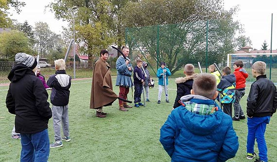
<svg viewBox="0 0 277 162">
<path fill-rule="evenodd" d="M 234 103 L 236 93 L 236 77 L 234 74 L 225 75 L 217 85 L 221 103 Z"/>
</svg>

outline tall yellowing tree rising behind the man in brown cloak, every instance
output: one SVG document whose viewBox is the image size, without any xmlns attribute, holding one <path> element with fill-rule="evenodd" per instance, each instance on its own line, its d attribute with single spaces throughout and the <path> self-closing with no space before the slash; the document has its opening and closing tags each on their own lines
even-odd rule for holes
<svg viewBox="0 0 277 162">
<path fill-rule="evenodd" d="M 84 50 L 91 59 L 98 56 L 101 48 L 107 49 L 112 44 L 121 46 L 124 40 L 119 11 L 129 0 L 59 0 L 49 7 L 57 19 L 69 21 L 72 29 L 73 6 L 77 6 L 75 18 L 76 42 L 85 42 Z M 69 37 L 72 38 L 72 32 Z M 93 39 L 92 39 L 93 37 Z M 70 39 L 67 39 L 68 41 Z"/>
</svg>

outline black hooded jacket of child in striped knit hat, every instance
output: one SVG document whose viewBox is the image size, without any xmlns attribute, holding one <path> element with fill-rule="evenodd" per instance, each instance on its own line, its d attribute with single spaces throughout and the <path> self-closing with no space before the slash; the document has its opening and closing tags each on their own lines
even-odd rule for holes
<svg viewBox="0 0 277 162">
<path fill-rule="evenodd" d="M 13 67 L 8 75 L 11 81 L 6 107 L 16 114 L 17 133 L 37 133 L 48 128 L 52 111 L 47 102 L 48 93 L 32 69 L 23 64 Z"/>
</svg>

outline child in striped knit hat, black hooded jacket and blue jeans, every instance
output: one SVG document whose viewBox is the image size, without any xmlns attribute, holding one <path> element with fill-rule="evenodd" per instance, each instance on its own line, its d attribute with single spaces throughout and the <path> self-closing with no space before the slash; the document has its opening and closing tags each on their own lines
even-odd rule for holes
<svg viewBox="0 0 277 162">
<path fill-rule="evenodd" d="M 11 81 L 6 107 L 16 114 L 15 131 L 21 134 L 20 162 L 47 162 L 49 157 L 48 121 L 52 112 L 48 93 L 35 76 L 35 57 L 17 53 L 15 65 L 8 75 Z"/>
</svg>

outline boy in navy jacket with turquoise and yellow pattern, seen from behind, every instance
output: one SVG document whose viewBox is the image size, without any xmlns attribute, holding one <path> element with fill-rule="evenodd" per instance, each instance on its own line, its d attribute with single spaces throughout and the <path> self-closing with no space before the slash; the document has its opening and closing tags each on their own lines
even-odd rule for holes
<svg viewBox="0 0 277 162">
<path fill-rule="evenodd" d="M 217 90 L 220 93 L 223 112 L 232 117 L 232 106 L 235 102 L 236 93 L 236 77 L 231 74 L 231 68 L 228 66 L 222 69 L 222 73 L 223 77 L 217 85 Z"/>
</svg>

